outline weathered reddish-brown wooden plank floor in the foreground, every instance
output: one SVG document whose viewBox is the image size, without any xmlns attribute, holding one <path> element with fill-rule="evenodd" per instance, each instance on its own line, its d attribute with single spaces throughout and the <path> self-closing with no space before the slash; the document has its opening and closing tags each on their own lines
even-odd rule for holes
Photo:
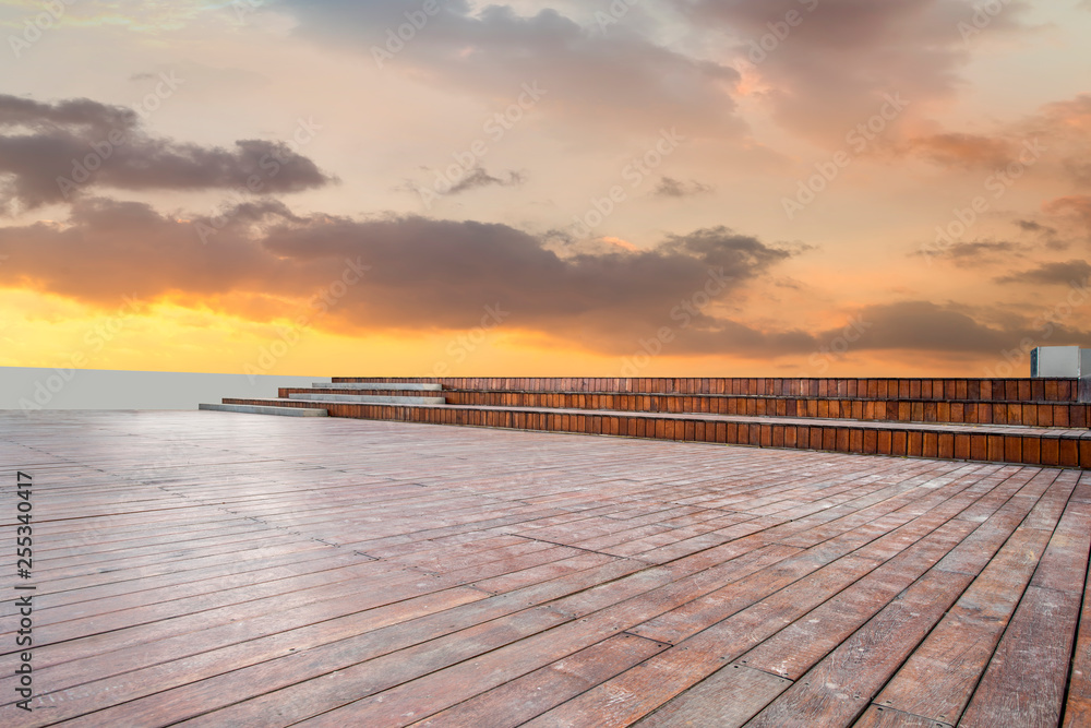
<svg viewBox="0 0 1091 728">
<path fill-rule="evenodd" d="M 0 462 L 3 726 L 1091 725 L 1091 473 L 213 411 Z"/>
</svg>

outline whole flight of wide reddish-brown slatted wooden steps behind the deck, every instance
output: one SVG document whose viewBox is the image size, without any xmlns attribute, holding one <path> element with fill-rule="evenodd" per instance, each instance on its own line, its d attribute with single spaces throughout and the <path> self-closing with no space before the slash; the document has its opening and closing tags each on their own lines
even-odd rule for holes
<svg viewBox="0 0 1091 728">
<path fill-rule="evenodd" d="M 1091 468 L 1080 380 L 336 378 L 256 406 L 332 417 Z M 431 397 L 346 395 L 368 384 L 440 386 Z M 434 391 L 434 390 L 433 390 Z M 947 396 L 947 395 L 950 396 Z M 323 396 L 326 398 L 319 399 Z M 1023 397 L 1023 398 L 1021 398 Z"/>
</svg>

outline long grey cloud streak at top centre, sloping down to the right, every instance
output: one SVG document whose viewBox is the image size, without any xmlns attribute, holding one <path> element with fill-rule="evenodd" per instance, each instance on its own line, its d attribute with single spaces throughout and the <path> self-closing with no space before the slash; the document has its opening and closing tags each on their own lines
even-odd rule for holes
<svg viewBox="0 0 1091 728">
<path fill-rule="evenodd" d="M 744 126 L 731 92 L 734 69 L 657 45 L 633 29 L 580 25 L 558 10 L 519 14 L 508 5 L 475 10 L 465 0 L 421 12 L 419 0 L 284 0 L 297 33 L 365 53 L 385 73 L 507 106 L 524 84 L 540 85 L 536 110 L 582 124 L 648 133 L 649 126 L 720 136 Z M 408 40 L 398 38 L 399 26 Z"/>
</svg>

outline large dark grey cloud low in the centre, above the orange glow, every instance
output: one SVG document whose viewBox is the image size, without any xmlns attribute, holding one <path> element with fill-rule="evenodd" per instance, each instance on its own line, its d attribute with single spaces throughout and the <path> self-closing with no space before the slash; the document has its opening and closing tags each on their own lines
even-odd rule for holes
<svg viewBox="0 0 1091 728">
<path fill-rule="evenodd" d="M 711 274 L 727 281 L 727 294 L 792 255 L 709 228 L 651 250 L 611 247 L 561 256 L 507 226 L 420 217 L 278 226 L 263 244 L 292 260 L 361 255 L 376 282 L 374 296 L 357 310 L 360 322 L 457 327 L 480 318 L 482 306 L 500 303 L 521 326 L 588 342 L 646 333 L 645 322 L 669 322 L 671 310 L 704 290 Z"/>
</svg>

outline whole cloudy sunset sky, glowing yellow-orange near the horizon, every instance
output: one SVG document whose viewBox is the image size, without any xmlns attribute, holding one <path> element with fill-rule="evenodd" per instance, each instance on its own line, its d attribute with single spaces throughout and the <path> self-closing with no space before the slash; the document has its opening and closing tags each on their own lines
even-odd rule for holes
<svg viewBox="0 0 1091 728">
<path fill-rule="evenodd" d="M 9 0 L 0 36 L 0 366 L 1091 347 L 1089 0 Z"/>
</svg>

